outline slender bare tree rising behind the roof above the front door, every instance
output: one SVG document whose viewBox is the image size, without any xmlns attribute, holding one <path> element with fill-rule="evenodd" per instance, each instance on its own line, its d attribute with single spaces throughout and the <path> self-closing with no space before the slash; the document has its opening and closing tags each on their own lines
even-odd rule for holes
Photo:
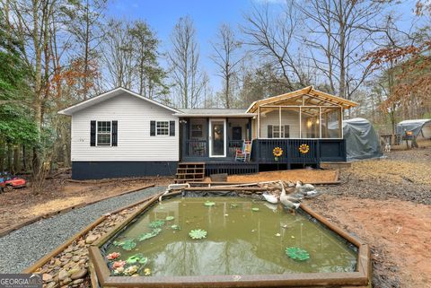
<svg viewBox="0 0 431 288">
<path fill-rule="evenodd" d="M 241 54 L 241 42 L 235 38 L 235 34 L 231 27 L 222 24 L 217 32 L 217 42 L 213 43 L 215 54 L 211 56 L 218 68 L 217 75 L 223 79 L 224 91 L 224 107 L 231 108 L 233 106 L 233 82 L 236 80 L 240 63 L 245 57 Z"/>
</svg>

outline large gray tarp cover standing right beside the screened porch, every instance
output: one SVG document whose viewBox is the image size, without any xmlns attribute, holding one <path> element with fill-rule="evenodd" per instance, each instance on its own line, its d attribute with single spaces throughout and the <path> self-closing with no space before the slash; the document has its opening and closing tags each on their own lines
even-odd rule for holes
<svg viewBox="0 0 431 288">
<path fill-rule="evenodd" d="M 347 146 L 347 161 L 381 157 L 378 136 L 365 118 L 344 120 L 343 133 Z"/>
</svg>

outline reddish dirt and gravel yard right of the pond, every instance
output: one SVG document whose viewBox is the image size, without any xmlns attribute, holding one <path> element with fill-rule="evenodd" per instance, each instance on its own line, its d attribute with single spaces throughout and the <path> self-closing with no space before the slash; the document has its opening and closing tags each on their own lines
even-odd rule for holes
<svg viewBox="0 0 431 288">
<path fill-rule="evenodd" d="M 307 200 L 369 243 L 374 287 L 431 287 L 431 148 L 388 153 L 340 171 L 341 185 Z"/>
</svg>

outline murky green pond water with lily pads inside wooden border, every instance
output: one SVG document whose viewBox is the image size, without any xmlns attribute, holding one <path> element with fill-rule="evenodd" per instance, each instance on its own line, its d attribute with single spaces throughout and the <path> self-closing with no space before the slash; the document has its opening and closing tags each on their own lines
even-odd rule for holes
<svg viewBox="0 0 431 288">
<path fill-rule="evenodd" d="M 189 236 L 197 229 L 207 231 L 206 238 Z M 288 257 L 286 248 L 292 247 L 306 250 L 309 258 Z M 351 272 L 357 257 L 346 240 L 302 211 L 291 214 L 281 205 L 227 196 L 163 200 L 110 240 L 104 255 L 112 252 L 120 253 L 115 261 L 132 257 L 117 272 L 109 261 L 113 275 L 124 275 L 137 255 L 129 275 L 160 276 Z"/>
</svg>

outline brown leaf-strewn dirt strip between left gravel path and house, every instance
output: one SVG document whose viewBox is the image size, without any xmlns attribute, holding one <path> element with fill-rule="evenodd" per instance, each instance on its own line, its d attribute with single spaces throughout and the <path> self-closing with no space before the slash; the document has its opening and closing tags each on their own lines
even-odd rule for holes
<svg viewBox="0 0 431 288">
<path fill-rule="evenodd" d="M 64 175 L 56 179 L 47 179 L 46 188 L 39 195 L 34 195 L 30 187 L 0 194 L 0 231 L 32 217 L 73 205 L 115 196 L 145 185 L 168 185 L 173 182 L 172 178 L 148 178 L 74 183 L 69 182 L 67 178 L 67 175 Z"/>
</svg>

